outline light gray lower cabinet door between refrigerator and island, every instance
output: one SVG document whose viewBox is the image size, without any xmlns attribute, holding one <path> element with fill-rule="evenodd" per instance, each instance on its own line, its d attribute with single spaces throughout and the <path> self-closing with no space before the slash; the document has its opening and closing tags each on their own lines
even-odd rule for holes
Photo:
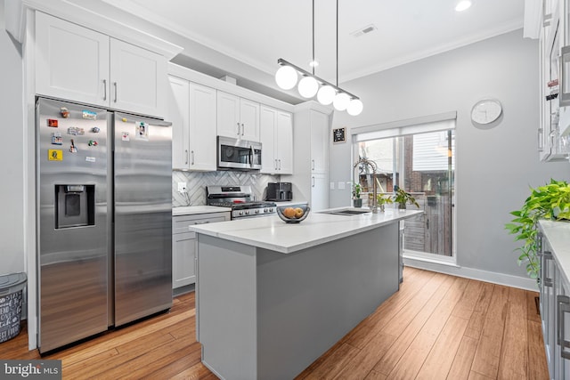
<svg viewBox="0 0 570 380">
<path fill-rule="evenodd" d="M 196 282 L 194 259 L 196 233 L 184 232 L 172 236 L 172 287 L 183 287 Z"/>
</svg>

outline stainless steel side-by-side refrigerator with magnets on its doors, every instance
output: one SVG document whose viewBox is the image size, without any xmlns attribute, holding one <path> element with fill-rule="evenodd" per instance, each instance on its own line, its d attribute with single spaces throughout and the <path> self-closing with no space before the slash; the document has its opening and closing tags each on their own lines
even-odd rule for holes
<svg viewBox="0 0 570 380">
<path fill-rule="evenodd" d="M 38 348 L 172 306 L 172 130 L 39 98 Z"/>
</svg>

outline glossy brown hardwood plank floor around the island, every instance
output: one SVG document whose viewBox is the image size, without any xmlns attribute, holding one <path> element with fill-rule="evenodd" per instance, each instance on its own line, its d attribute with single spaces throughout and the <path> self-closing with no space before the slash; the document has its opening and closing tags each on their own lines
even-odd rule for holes
<svg viewBox="0 0 570 380">
<path fill-rule="evenodd" d="M 382 303 L 301 379 L 548 379 L 537 293 L 405 268 Z M 200 362 L 194 294 L 166 314 L 55 352 L 64 379 L 216 379 Z M 2 359 L 39 359 L 25 327 Z"/>
</svg>

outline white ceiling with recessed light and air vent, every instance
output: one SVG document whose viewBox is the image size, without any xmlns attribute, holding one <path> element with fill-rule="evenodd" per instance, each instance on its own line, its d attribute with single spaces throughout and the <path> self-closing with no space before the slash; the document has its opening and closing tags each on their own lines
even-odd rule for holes
<svg viewBox="0 0 570 380">
<path fill-rule="evenodd" d="M 283 58 L 310 70 L 310 0 L 102 0 L 273 74 Z M 339 83 L 523 27 L 524 0 L 339 0 Z M 315 74 L 336 82 L 336 2 L 314 0 Z M 351 36 L 368 25 L 377 30 Z M 191 53 L 189 53 L 191 55 Z"/>
</svg>

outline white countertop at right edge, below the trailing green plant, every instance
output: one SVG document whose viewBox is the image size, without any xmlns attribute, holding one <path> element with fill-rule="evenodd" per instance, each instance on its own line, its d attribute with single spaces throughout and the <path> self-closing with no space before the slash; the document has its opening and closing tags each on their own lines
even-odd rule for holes
<svg viewBox="0 0 570 380">
<path fill-rule="evenodd" d="M 552 247 L 552 255 L 566 283 L 570 284 L 570 223 L 540 221 L 544 236 Z"/>
</svg>

